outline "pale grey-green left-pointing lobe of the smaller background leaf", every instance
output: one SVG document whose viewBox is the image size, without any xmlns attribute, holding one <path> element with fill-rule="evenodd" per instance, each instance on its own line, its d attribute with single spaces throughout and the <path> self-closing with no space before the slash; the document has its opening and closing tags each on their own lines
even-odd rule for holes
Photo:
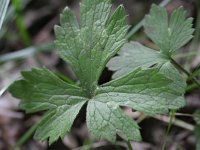
<svg viewBox="0 0 200 150">
<path fill-rule="evenodd" d="M 157 63 L 168 61 L 159 51 L 145 47 L 138 42 L 125 44 L 118 55 L 112 58 L 107 64 L 109 70 L 115 71 L 112 76 L 113 79 L 130 73 L 139 67 L 148 68 Z"/>
</svg>

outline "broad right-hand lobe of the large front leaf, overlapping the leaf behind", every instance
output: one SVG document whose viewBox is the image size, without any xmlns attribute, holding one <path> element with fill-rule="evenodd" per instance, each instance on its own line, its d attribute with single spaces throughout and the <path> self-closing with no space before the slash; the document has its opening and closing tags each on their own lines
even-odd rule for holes
<svg viewBox="0 0 200 150">
<path fill-rule="evenodd" d="M 169 88 L 171 82 L 159 69 L 137 69 L 101 86 L 95 99 L 151 114 L 166 113 L 185 105 L 182 95 Z"/>
</svg>

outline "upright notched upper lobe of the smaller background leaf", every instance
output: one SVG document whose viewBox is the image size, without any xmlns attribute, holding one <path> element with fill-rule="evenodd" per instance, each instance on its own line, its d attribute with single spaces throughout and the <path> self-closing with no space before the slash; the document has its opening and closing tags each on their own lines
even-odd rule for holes
<svg viewBox="0 0 200 150">
<path fill-rule="evenodd" d="M 179 7 L 168 19 L 165 8 L 152 5 L 150 14 L 145 17 L 146 34 L 168 56 L 193 37 L 192 18 L 186 19 L 185 13 L 183 7 Z"/>
</svg>

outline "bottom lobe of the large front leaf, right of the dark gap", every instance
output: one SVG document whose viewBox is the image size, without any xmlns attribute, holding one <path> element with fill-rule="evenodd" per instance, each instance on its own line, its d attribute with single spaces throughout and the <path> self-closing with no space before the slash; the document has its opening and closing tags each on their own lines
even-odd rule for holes
<svg viewBox="0 0 200 150">
<path fill-rule="evenodd" d="M 126 116 L 112 100 L 108 103 L 97 99 L 89 102 L 87 107 L 87 126 L 89 131 L 99 139 L 103 137 L 115 142 L 116 134 L 118 134 L 127 141 L 141 140 L 138 125 L 130 117 Z"/>
</svg>

